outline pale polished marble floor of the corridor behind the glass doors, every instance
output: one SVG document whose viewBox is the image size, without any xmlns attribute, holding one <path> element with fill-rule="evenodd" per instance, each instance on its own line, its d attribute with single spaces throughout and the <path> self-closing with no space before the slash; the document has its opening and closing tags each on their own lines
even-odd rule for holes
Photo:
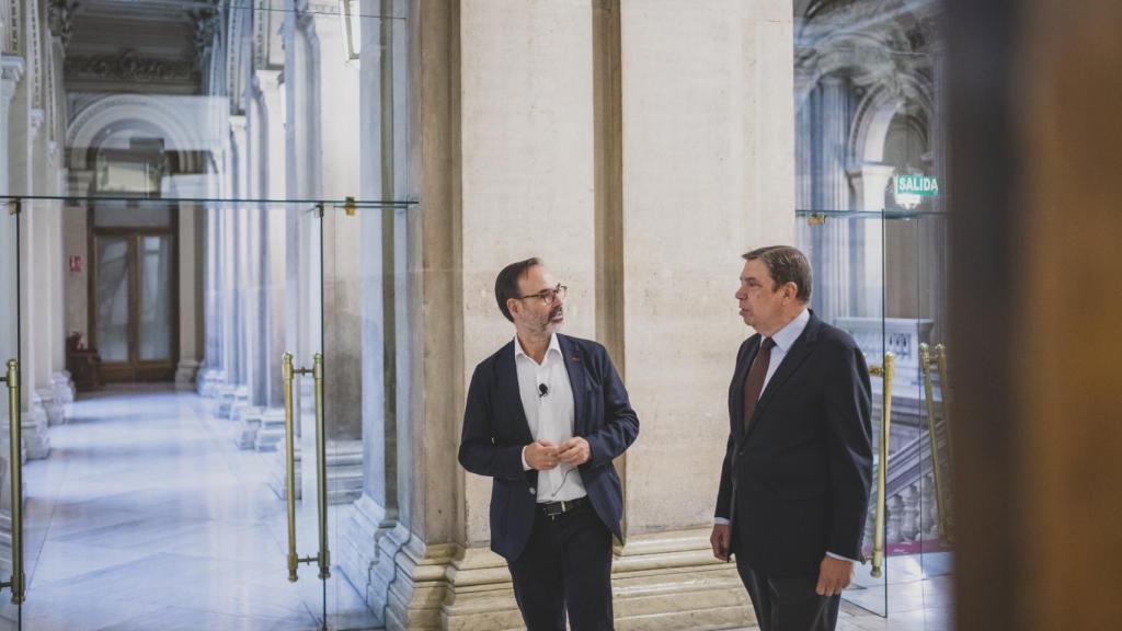
<svg viewBox="0 0 1122 631">
<path fill-rule="evenodd" d="M 378 624 L 338 569 L 324 584 L 302 566 L 288 583 L 285 504 L 268 486 L 276 455 L 239 450 L 237 423 L 211 405 L 112 388 L 50 428 L 50 457 L 24 468 L 22 629 L 303 630 L 325 612 L 332 629 Z M 302 507 L 302 556 L 315 550 L 312 520 Z"/>
</svg>

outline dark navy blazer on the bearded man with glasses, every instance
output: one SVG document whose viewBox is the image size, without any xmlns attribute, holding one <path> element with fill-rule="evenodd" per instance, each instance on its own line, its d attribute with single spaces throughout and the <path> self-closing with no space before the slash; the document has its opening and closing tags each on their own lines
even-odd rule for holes
<svg viewBox="0 0 1122 631">
<path fill-rule="evenodd" d="M 592 509 L 623 540 L 623 493 L 611 460 L 638 435 L 638 418 L 607 350 L 595 341 L 558 335 L 573 399 L 573 436 L 588 440 L 591 456 L 580 477 Z M 522 448 L 534 441 L 518 394 L 514 340 L 484 359 L 471 375 L 463 411 L 460 464 L 494 477 L 491 550 L 515 560 L 530 539 L 537 472 L 523 470 Z"/>
</svg>

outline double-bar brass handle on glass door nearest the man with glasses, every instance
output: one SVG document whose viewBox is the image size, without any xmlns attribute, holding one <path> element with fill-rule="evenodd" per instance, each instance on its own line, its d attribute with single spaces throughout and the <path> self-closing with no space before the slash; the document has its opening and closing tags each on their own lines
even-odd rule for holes
<svg viewBox="0 0 1122 631">
<path fill-rule="evenodd" d="M 311 368 L 296 368 L 291 353 L 280 356 L 280 375 L 284 382 L 285 436 L 285 500 L 288 510 L 288 580 L 295 583 L 300 564 L 318 563 L 320 578 L 331 577 L 331 552 L 328 550 L 328 465 L 325 428 L 323 426 L 323 355 L 316 353 Z M 315 379 L 315 455 L 316 506 L 319 509 L 320 549 L 314 557 L 296 554 L 296 454 L 293 431 L 292 383 L 296 375 L 312 375 Z"/>
</svg>

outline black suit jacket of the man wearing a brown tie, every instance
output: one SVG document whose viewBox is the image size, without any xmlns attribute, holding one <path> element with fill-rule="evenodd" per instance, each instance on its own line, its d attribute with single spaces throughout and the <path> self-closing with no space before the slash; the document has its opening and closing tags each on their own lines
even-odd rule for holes
<svg viewBox="0 0 1122 631">
<path fill-rule="evenodd" d="M 873 477 L 871 387 L 848 333 L 813 313 L 743 431 L 744 381 L 761 336 L 741 345 L 716 515 L 732 549 L 773 576 L 818 574 L 827 551 L 861 558 Z"/>
</svg>

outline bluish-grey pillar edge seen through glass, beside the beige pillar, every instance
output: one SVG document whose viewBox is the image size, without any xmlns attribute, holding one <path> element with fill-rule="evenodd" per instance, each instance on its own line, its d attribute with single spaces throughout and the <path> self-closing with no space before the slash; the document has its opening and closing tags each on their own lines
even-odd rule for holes
<svg viewBox="0 0 1122 631">
<path fill-rule="evenodd" d="M 369 1 L 364 13 L 404 15 L 403 1 Z M 408 131 L 408 31 L 401 20 L 366 19 L 361 28 L 361 111 L 359 129 L 364 177 L 360 198 L 394 200 L 406 190 L 404 167 Z M 361 423 L 362 494 L 355 502 L 340 542 L 347 577 L 381 611 L 386 570 L 392 559 L 379 554 L 383 539 L 397 527 L 398 354 L 405 331 L 407 289 L 404 238 L 406 210 L 366 209 L 361 216 Z M 399 259 L 399 262 L 398 262 Z M 401 310 L 401 311 L 399 311 Z M 404 348 L 404 345 L 402 346 Z M 380 567 L 379 567 L 380 566 Z"/>
</svg>

